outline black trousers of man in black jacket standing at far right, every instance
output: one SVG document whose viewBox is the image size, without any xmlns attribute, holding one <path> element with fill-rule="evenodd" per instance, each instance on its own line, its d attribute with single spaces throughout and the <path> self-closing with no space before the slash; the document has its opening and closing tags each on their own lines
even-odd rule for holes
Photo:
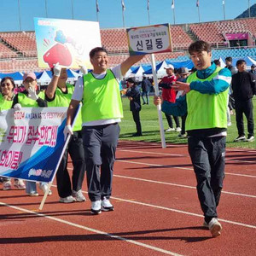
<svg viewBox="0 0 256 256">
<path fill-rule="evenodd" d="M 247 117 L 247 131 L 248 136 L 253 136 L 254 122 L 253 122 L 253 101 L 249 99 L 244 102 L 236 101 L 236 127 L 238 130 L 239 136 L 245 136 L 244 125 L 243 125 L 243 116 L 245 114 Z"/>
</svg>

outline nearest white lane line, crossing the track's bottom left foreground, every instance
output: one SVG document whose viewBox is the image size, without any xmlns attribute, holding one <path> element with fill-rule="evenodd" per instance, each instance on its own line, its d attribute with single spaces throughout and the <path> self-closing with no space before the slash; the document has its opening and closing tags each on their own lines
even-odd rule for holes
<svg viewBox="0 0 256 256">
<path fill-rule="evenodd" d="M 148 245 L 146 243 L 143 243 L 143 242 L 140 242 L 140 241 L 134 241 L 134 240 L 131 240 L 131 239 L 126 239 L 125 237 L 122 237 L 122 236 L 115 236 L 115 235 L 106 233 L 106 232 L 104 232 L 102 230 L 91 229 L 89 227 L 86 227 L 86 226 L 83 226 L 83 225 L 80 225 L 80 224 L 75 224 L 73 222 L 69 222 L 69 221 L 61 219 L 61 218 L 51 217 L 49 215 L 46 215 L 46 214 L 43 214 L 43 213 L 39 213 L 39 212 L 32 212 L 30 210 L 27 210 L 27 209 L 24 209 L 24 208 L 20 208 L 20 207 L 15 207 L 15 206 L 3 203 L 3 202 L 0 202 L 0 206 L 10 207 L 10 208 L 18 210 L 20 212 L 27 212 L 27 213 L 31 213 L 31 214 L 34 214 L 34 215 L 39 216 L 39 217 L 49 218 L 51 220 L 54 220 L 54 221 L 62 223 L 62 224 L 67 224 L 67 225 L 70 225 L 70 226 L 73 226 L 73 227 L 76 227 L 76 228 L 79 228 L 79 229 L 82 229 L 82 230 L 90 231 L 92 233 L 100 234 L 100 235 L 103 235 L 103 236 L 108 236 L 108 237 L 111 237 L 113 239 L 117 239 L 117 240 L 120 240 L 120 241 L 130 242 L 130 243 L 135 244 L 137 246 L 146 247 L 146 248 L 154 250 L 156 252 L 165 253 L 165 254 L 173 255 L 173 256 L 182 256 L 181 254 L 173 253 L 173 252 L 167 251 L 165 249 L 161 249 L 160 247 L 150 246 L 150 245 Z"/>
</svg>

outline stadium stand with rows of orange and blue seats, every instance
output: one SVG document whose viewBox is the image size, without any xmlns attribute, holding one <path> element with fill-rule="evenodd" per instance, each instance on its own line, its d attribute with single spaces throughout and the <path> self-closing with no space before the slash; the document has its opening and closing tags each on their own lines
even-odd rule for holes
<svg viewBox="0 0 256 256">
<path fill-rule="evenodd" d="M 256 48 L 243 47 L 228 48 L 229 44 L 225 33 L 247 32 L 255 44 L 256 20 L 246 18 L 240 20 L 221 20 L 214 22 L 182 24 L 171 26 L 172 53 L 156 54 L 156 61 L 188 61 L 187 49 L 196 39 L 211 43 L 214 50 L 212 58 L 243 57 L 245 55 L 256 58 Z M 128 55 L 128 41 L 125 28 L 101 29 L 102 45 L 108 50 L 110 66 L 124 61 Z M 141 63 L 150 62 L 147 55 Z M 35 32 L 0 32 L 0 73 L 15 71 L 42 71 L 38 68 Z"/>
</svg>

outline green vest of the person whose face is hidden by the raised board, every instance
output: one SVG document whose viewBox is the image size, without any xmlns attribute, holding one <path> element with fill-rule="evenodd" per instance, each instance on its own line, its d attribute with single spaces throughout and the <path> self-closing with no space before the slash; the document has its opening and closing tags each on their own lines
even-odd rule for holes
<svg viewBox="0 0 256 256">
<path fill-rule="evenodd" d="M 48 107 L 68 107 L 71 102 L 74 86 L 72 84 L 67 85 L 67 93 L 63 93 L 62 90 L 57 87 L 55 90 L 55 99 L 52 102 L 48 102 Z M 82 114 L 81 111 L 78 113 L 78 117 L 73 126 L 73 131 L 82 130 Z"/>
</svg>

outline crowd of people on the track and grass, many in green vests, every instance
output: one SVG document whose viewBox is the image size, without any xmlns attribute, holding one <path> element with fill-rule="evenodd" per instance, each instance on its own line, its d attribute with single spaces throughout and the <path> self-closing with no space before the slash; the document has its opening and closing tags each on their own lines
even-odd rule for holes
<svg viewBox="0 0 256 256">
<path fill-rule="evenodd" d="M 212 236 L 219 236 L 222 230 L 218 222 L 217 207 L 224 180 L 225 140 L 229 114 L 236 109 L 236 142 L 253 142 L 253 95 L 256 94 L 255 66 L 246 71 L 246 62 L 239 60 L 232 67 L 231 57 L 226 58 L 226 68 L 211 60 L 212 50 L 204 41 L 189 46 L 189 55 L 194 63 L 193 70 L 186 67 L 175 69 L 166 66 L 166 76 L 160 79 L 161 96 L 154 97 L 154 104 L 162 105 L 166 115 L 168 131 L 178 131 L 179 137 L 188 137 L 189 154 L 197 180 L 197 193 L 201 209 Z M 90 51 L 92 71 L 84 71 L 75 86 L 67 83 L 67 71 L 58 63 L 52 68 L 53 78 L 44 91 L 38 90 L 34 73 L 23 77 L 25 90 L 14 93 L 15 84 L 11 78 L 1 80 L 0 108 L 67 107 L 65 137 L 70 137 L 61 164 L 56 172 L 57 191 L 61 203 L 85 201 L 82 184 L 86 171 L 90 212 L 113 211 L 110 201 L 113 183 L 113 164 L 119 140 L 119 122 L 123 118 L 119 83 L 128 69 L 144 55 L 127 58 L 116 67 L 108 68 L 108 53 L 102 47 Z M 122 89 L 130 101 L 130 110 L 136 124 L 134 137 L 143 136 L 140 112 L 149 104 L 152 84 L 143 77 L 141 89 L 136 79 L 126 80 Z M 82 104 L 79 116 L 72 128 L 73 116 Z M 243 113 L 247 117 L 247 138 L 243 127 Z M 174 119 L 176 128 L 174 128 Z M 181 125 L 180 125 L 181 119 Z M 67 158 L 73 163 L 72 177 L 67 171 Z M 11 189 L 11 179 L 2 178 L 3 189 Z M 37 196 L 37 183 L 25 183 L 15 178 L 15 187 L 26 189 L 26 194 Z M 40 183 L 39 189 L 47 191 L 47 183 Z M 50 190 L 49 195 L 52 194 Z"/>
</svg>

